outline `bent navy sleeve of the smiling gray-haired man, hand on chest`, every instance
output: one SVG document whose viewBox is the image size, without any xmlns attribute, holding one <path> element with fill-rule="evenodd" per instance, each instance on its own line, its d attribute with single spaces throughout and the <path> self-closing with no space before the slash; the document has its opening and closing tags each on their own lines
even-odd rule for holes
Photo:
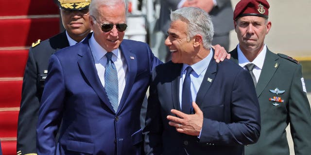
<svg viewBox="0 0 311 155">
<path fill-rule="evenodd" d="M 241 70 L 231 90 L 230 123 L 204 118 L 200 143 L 222 146 L 247 145 L 260 135 L 260 110 L 250 74 Z"/>
</svg>

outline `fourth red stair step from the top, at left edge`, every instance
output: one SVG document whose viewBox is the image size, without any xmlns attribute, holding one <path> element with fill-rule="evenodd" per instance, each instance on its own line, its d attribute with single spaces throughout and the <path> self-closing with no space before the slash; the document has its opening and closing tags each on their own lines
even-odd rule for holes
<svg viewBox="0 0 311 155">
<path fill-rule="evenodd" d="M 0 108 L 20 106 L 22 83 L 22 80 L 0 80 Z"/>
</svg>

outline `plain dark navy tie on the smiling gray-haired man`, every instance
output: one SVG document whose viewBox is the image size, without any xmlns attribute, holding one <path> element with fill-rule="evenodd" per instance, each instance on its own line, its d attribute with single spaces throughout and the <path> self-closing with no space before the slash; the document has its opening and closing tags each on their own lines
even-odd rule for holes
<svg viewBox="0 0 311 155">
<path fill-rule="evenodd" d="M 190 79 L 190 73 L 192 72 L 192 68 L 188 66 L 186 68 L 187 73 L 184 79 L 183 83 L 183 90 L 182 90 L 182 96 L 181 96 L 181 111 L 190 114 L 191 113 L 191 108 L 192 108 L 192 97 L 191 97 L 191 90 L 190 90 L 190 84 L 191 84 L 191 79 Z"/>
</svg>

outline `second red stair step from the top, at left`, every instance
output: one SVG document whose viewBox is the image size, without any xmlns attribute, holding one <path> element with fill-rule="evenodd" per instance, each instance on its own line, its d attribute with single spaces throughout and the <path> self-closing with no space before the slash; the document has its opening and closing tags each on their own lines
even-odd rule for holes
<svg viewBox="0 0 311 155">
<path fill-rule="evenodd" d="M 59 17 L 0 20 L 0 47 L 31 46 L 59 33 Z"/>
</svg>

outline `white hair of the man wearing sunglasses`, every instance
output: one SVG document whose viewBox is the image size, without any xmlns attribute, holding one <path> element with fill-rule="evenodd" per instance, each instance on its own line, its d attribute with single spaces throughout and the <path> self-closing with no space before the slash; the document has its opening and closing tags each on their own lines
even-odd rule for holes
<svg viewBox="0 0 311 155">
<path fill-rule="evenodd" d="M 123 3 L 125 6 L 125 16 L 127 13 L 127 6 L 125 0 L 92 0 L 89 4 L 89 15 L 94 17 L 99 17 L 98 9 L 101 6 L 115 6 L 116 4 Z"/>
</svg>

